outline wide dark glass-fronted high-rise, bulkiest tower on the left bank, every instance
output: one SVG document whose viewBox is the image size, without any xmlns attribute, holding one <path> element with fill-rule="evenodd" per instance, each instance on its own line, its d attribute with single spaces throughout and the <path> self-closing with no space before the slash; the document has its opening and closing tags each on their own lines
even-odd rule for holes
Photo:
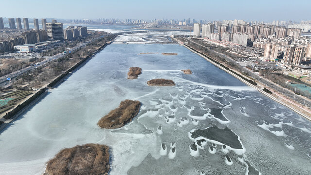
<svg viewBox="0 0 311 175">
<path fill-rule="evenodd" d="M 64 40 L 63 23 L 46 23 L 49 41 Z"/>
</svg>

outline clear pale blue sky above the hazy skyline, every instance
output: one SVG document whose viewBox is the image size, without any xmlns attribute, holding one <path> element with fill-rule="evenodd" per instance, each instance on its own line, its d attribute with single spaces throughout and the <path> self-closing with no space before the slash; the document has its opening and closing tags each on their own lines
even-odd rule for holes
<svg viewBox="0 0 311 175">
<path fill-rule="evenodd" d="M 0 0 L 0 17 L 311 20 L 311 0 Z"/>
</svg>

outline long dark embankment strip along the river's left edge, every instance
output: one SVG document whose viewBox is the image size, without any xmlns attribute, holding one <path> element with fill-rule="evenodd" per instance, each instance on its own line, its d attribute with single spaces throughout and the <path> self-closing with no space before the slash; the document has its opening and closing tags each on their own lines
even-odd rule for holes
<svg viewBox="0 0 311 175">
<path fill-rule="evenodd" d="M 114 37 L 115 38 L 115 37 Z M 112 38 L 112 39 L 114 39 Z M 111 39 L 111 40 L 112 40 Z M 110 43 L 109 43 L 110 44 Z M 60 82 L 63 78 L 66 77 L 66 75 L 69 74 L 69 72 L 75 70 L 76 68 L 78 68 L 81 64 L 83 64 L 86 60 L 88 60 L 89 58 L 93 57 L 94 55 L 96 55 L 97 53 L 99 53 L 102 49 L 104 49 L 107 45 L 109 45 L 108 43 L 104 43 L 102 46 L 100 46 L 95 52 L 89 54 L 88 56 L 84 57 L 82 60 L 80 60 L 78 63 L 76 63 L 74 66 L 72 66 L 69 70 L 67 70 L 66 72 L 62 73 L 61 75 L 59 75 L 58 77 L 56 77 L 51 83 L 49 83 L 47 85 L 47 87 L 40 89 L 38 92 L 36 92 L 35 94 L 33 94 L 31 97 L 29 97 L 26 101 L 24 101 L 23 103 L 21 103 L 20 105 L 18 105 L 17 107 L 15 107 L 13 110 L 11 110 L 10 112 L 6 113 L 4 118 L 6 119 L 6 121 L 4 121 L 4 123 L 0 123 L 0 132 L 6 128 L 6 126 L 11 123 L 12 121 L 16 120 L 19 115 L 24 112 L 26 109 L 28 109 L 30 106 L 32 106 L 35 102 L 37 102 L 40 98 L 44 97 L 44 95 L 46 94 L 46 89 L 51 88 L 53 86 L 55 86 L 58 82 Z"/>
</svg>

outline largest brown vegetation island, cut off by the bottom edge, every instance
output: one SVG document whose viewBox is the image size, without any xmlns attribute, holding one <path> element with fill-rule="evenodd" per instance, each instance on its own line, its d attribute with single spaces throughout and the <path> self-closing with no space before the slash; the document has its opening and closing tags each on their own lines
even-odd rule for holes
<svg viewBox="0 0 311 175">
<path fill-rule="evenodd" d="M 48 161 L 44 175 L 107 175 L 108 151 L 108 146 L 99 144 L 63 149 Z"/>
</svg>

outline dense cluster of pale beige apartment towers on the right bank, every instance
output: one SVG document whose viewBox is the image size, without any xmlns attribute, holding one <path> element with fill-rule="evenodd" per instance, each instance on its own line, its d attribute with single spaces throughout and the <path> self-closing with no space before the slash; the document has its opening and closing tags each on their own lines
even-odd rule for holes
<svg viewBox="0 0 311 175">
<path fill-rule="evenodd" d="M 252 25 L 243 20 L 236 20 L 231 24 L 226 22 L 203 25 L 196 23 L 193 27 L 193 36 L 203 37 L 208 42 L 240 53 L 247 47 L 237 45 L 264 49 L 261 57 L 263 60 L 274 61 L 283 55 L 284 65 L 297 66 L 304 60 L 310 60 L 311 57 L 310 38 L 301 36 L 302 31 L 301 28 L 287 28 L 264 23 Z M 259 57 L 259 55 L 256 56 L 254 50 L 246 53 L 248 56 Z"/>
</svg>

